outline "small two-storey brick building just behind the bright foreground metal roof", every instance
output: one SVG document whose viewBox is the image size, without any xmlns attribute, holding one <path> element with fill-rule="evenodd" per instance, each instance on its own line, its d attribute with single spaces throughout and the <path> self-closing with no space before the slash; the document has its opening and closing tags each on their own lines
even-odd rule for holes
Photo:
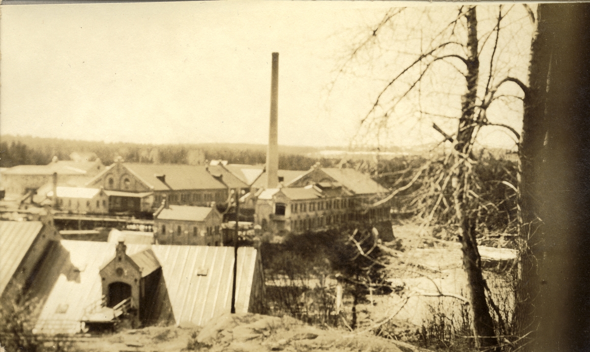
<svg viewBox="0 0 590 352">
<path fill-rule="evenodd" d="M 214 207 L 162 205 L 154 213 L 158 244 L 222 245 L 222 215 Z"/>
</svg>

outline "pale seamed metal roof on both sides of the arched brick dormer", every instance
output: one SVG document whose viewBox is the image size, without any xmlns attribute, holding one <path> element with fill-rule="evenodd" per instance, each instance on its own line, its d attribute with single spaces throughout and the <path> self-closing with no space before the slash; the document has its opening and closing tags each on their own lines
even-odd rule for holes
<svg viewBox="0 0 590 352">
<path fill-rule="evenodd" d="M 114 243 L 61 240 L 52 248 L 38 280 L 32 285 L 35 297 L 44 301 L 35 333 L 80 331 L 84 310 L 101 299 L 99 271 L 112 260 L 115 247 Z M 202 325 L 230 311 L 232 247 L 152 245 L 150 250 L 146 245 L 127 245 L 126 252 L 142 264 L 143 260 L 149 261 L 152 267 L 155 260 L 160 263 L 177 324 Z M 143 254 L 137 256 L 138 253 Z M 239 313 L 248 310 L 256 255 L 254 248 L 238 249 L 236 311 Z M 205 271 L 206 275 L 198 275 Z"/>
</svg>

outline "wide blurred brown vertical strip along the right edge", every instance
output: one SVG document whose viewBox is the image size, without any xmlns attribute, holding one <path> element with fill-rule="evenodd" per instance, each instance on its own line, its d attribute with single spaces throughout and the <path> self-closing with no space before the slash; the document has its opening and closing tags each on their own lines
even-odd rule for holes
<svg viewBox="0 0 590 352">
<path fill-rule="evenodd" d="M 550 13 L 549 138 L 543 163 L 543 241 L 535 351 L 590 348 L 590 5 L 543 4 Z"/>
</svg>

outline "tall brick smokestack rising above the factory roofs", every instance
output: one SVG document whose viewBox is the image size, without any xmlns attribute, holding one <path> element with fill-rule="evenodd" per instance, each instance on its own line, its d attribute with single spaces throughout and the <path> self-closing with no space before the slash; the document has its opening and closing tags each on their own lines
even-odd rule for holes
<svg viewBox="0 0 590 352">
<path fill-rule="evenodd" d="M 267 188 L 278 184 L 278 52 L 273 52 L 273 71 L 270 82 L 270 126 L 266 152 Z"/>
</svg>

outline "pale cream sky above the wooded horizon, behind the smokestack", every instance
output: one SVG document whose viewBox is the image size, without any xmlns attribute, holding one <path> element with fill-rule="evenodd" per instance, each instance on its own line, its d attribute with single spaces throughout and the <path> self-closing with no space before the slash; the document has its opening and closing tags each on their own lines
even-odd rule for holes
<svg viewBox="0 0 590 352">
<path fill-rule="evenodd" d="M 365 1 L 3 5 L 0 133 L 264 144 L 270 58 L 276 51 L 279 143 L 348 145 L 383 86 L 383 71 L 374 77 L 370 70 L 360 77 L 341 75 L 330 95 L 327 88 L 359 33 L 391 6 Z M 441 9 L 455 11 L 450 5 Z M 530 37 L 523 43 L 526 47 Z M 514 114 L 510 118 L 517 119 Z M 440 138 L 431 121 L 424 125 L 427 132 L 416 124 L 408 118 L 396 125 L 394 144 Z M 494 138 L 506 144 L 501 134 L 492 144 Z"/>
</svg>

